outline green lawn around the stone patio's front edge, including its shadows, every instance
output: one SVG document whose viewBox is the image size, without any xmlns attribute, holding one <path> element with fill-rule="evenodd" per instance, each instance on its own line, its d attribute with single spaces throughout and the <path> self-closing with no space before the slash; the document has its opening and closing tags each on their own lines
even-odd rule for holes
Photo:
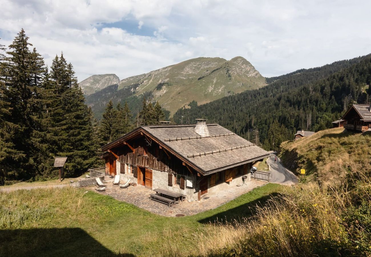
<svg viewBox="0 0 371 257">
<path fill-rule="evenodd" d="M 251 207 L 281 189 L 269 183 L 216 209 L 179 218 L 86 189 L 0 193 L 0 256 L 199 254 L 200 235 L 213 230 L 215 221 L 251 218 Z"/>
</svg>

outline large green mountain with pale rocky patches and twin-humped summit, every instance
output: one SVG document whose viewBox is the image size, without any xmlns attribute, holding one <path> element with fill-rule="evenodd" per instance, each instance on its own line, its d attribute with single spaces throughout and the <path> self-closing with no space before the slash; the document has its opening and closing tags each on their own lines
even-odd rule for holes
<svg viewBox="0 0 371 257">
<path fill-rule="evenodd" d="M 188 103 L 192 101 L 204 104 L 265 85 L 265 78 L 242 57 L 235 57 L 230 61 L 200 57 L 122 79 L 115 92 L 102 95 L 98 91 L 92 98 L 99 98 L 103 103 L 112 99 L 115 104 L 115 101 L 125 101 L 124 97 L 118 98 L 115 95 L 129 97 L 130 88 L 130 93 L 134 96 L 151 95 L 173 115 L 181 107 L 189 108 Z M 120 93 L 122 90 L 125 94 Z M 89 98 L 86 103 L 95 105 Z M 103 108 L 93 108 L 93 111 L 99 116 Z"/>
</svg>

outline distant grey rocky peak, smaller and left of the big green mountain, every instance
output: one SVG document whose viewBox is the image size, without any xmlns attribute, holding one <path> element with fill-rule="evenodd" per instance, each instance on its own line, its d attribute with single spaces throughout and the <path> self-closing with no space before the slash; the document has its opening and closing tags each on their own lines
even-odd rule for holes
<svg viewBox="0 0 371 257">
<path fill-rule="evenodd" d="M 116 74 L 102 74 L 92 75 L 91 77 L 84 79 L 79 83 L 79 86 L 85 95 L 90 95 L 108 87 L 109 85 L 118 84 L 119 82 L 120 79 Z"/>
</svg>

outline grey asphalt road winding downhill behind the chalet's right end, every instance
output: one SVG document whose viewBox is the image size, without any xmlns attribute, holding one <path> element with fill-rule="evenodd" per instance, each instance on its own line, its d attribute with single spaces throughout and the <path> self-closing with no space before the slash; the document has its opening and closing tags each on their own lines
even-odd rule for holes
<svg viewBox="0 0 371 257">
<path fill-rule="evenodd" d="M 282 185 L 292 185 L 298 183 L 298 177 L 282 165 L 281 159 L 276 156 L 275 152 L 271 151 L 269 153 L 271 154 L 271 156 L 267 159 L 270 172 L 269 182 Z M 275 157 L 277 158 L 276 162 Z"/>
</svg>

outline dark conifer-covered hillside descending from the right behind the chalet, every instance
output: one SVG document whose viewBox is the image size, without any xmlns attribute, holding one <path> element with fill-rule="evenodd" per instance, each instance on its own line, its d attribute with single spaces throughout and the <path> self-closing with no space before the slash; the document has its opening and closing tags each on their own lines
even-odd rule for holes
<svg viewBox="0 0 371 257">
<path fill-rule="evenodd" d="M 176 123 L 207 118 L 267 150 L 277 150 L 296 130 L 331 127 L 350 103 L 369 101 L 371 55 L 269 78 L 258 90 L 224 97 L 208 104 L 182 108 Z"/>
</svg>

